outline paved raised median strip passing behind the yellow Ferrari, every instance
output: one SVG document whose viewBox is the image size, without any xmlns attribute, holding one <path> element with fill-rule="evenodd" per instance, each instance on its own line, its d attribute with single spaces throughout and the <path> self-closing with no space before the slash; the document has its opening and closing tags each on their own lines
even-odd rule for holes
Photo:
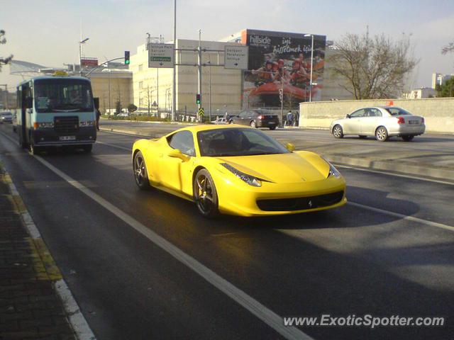
<svg viewBox="0 0 454 340">
<path fill-rule="evenodd" d="M 121 124 L 101 125 L 101 130 L 111 132 L 121 132 L 129 135 L 139 135 L 144 137 L 161 137 L 176 128 L 150 127 L 140 124 Z M 299 128 L 286 129 L 297 131 Z M 431 177 L 433 179 L 443 179 L 454 181 L 454 151 L 445 152 L 433 150 L 411 150 L 399 147 L 386 147 L 389 145 L 361 145 L 357 147 L 351 142 L 320 141 L 305 137 L 301 132 L 301 137 L 289 137 L 287 135 L 277 136 L 281 142 L 292 142 L 297 149 L 317 152 L 336 164 L 350 166 L 360 166 L 367 169 L 394 171 L 407 175 Z M 354 142 L 354 141 L 353 141 Z M 391 143 L 391 142 L 387 142 Z M 403 142 L 402 142 L 403 143 Z"/>
</svg>

